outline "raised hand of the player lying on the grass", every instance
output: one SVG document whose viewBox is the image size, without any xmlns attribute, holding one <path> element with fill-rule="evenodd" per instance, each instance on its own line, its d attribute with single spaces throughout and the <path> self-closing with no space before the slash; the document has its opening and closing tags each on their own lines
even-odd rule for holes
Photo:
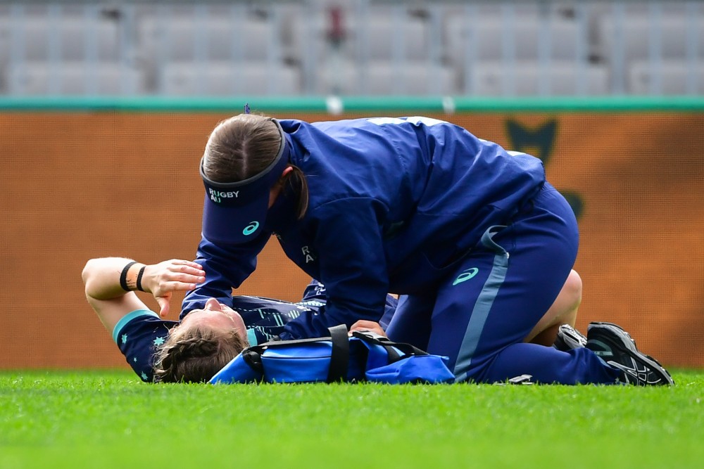
<svg viewBox="0 0 704 469">
<path fill-rule="evenodd" d="M 170 259 L 147 265 L 142 277 L 142 288 L 151 293 L 159 304 L 159 314 L 169 314 L 171 297 L 176 291 L 193 290 L 206 280 L 200 264 L 182 259 Z"/>
</svg>

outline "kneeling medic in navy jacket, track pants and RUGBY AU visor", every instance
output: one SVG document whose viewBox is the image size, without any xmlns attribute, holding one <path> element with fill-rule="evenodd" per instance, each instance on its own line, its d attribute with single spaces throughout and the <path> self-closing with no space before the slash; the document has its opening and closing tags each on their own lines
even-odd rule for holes
<svg viewBox="0 0 704 469">
<path fill-rule="evenodd" d="M 402 296 L 389 338 L 448 356 L 458 381 L 627 380 L 589 349 L 524 343 L 565 287 L 579 244 L 538 158 L 428 117 L 308 123 L 244 113 L 212 131 L 200 174 L 196 262 L 206 281 L 182 314 L 208 297 L 227 301 L 274 235 L 327 288 L 325 307 L 289 321 L 282 339 L 379 321 L 391 292 Z"/>
</svg>

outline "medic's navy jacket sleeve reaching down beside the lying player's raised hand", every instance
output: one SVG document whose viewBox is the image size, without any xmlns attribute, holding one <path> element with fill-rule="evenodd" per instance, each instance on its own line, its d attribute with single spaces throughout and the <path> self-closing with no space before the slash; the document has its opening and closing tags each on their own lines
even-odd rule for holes
<svg viewBox="0 0 704 469">
<path fill-rule="evenodd" d="M 208 298 L 232 305 L 232 288 L 238 288 L 256 269 L 257 255 L 269 238 L 270 233 L 264 232 L 249 243 L 239 245 L 218 245 L 201 238 L 195 262 L 203 266 L 206 281 L 186 293 L 180 319 L 191 309 L 202 308 Z"/>
</svg>

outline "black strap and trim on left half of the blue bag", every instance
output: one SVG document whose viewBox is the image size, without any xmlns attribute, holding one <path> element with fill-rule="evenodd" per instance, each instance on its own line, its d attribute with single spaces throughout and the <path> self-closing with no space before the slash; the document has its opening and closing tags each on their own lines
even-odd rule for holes
<svg viewBox="0 0 704 469">
<path fill-rule="evenodd" d="M 349 366 L 350 342 L 347 335 L 347 326 L 339 324 L 327 328 L 330 332 L 330 337 L 318 337 L 310 339 L 295 339 L 295 340 L 272 340 L 263 344 L 253 345 L 242 351 L 244 362 L 258 372 L 264 373 L 264 366 L 261 361 L 261 354 L 265 349 L 284 347 L 286 345 L 301 345 L 310 342 L 321 342 L 329 340 L 332 342 L 332 353 L 330 355 L 330 368 L 327 373 L 327 383 L 335 381 L 347 380 L 347 368 Z"/>
</svg>

